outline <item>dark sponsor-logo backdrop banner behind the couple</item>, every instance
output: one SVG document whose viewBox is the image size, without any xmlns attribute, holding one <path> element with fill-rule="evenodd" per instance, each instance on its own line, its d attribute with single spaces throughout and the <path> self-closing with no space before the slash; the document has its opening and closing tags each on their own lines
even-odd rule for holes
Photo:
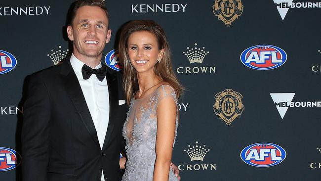
<svg viewBox="0 0 321 181">
<path fill-rule="evenodd" d="M 72 52 L 73 0 L 0 5 L 0 180 L 20 181 L 25 79 Z M 321 1 L 107 0 L 119 71 L 129 20 L 164 28 L 180 98 L 173 162 L 182 181 L 321 180 Z M 64 102 L 61 102 L 64 104 Z"/>
</svg>

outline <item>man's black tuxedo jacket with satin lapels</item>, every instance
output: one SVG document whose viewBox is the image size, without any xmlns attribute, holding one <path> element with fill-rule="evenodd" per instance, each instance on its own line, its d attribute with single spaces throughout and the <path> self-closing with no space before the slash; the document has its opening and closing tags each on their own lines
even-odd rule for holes
<svg viewBox="0 0 321 181">
<path fill-rule="evenodd" d="M 108 69 L 109 124 L 103 148 L 76 74 L 66 61 L 30 78 L 22 126 L 23 181 L 120 181 L 126 118 L 121 75 Z"/>
</svg>

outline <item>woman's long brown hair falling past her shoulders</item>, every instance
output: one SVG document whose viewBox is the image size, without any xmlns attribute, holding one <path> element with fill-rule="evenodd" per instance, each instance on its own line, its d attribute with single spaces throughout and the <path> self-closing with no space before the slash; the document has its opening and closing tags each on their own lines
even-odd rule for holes
<svg viewBox="0 0 321 181">
<path fill-rule="evenodd" d="M 177 97 L 181 94 L 183 88 L 174 74 L 171 63 L 171 52 L 164 30 L 153 20 L 134 20 L 126 23 L 120 33 L 119 58 L 123 65 L 123 88 L 127 103 L 130 102 L 132 94 L 139 90 L 137 72 L 131 66 L 127 53 L 127 42 L 129 36 L 134 32 L 146 31 L 153 34 L 158 41 L 159 50 L 164 49 L 163 56 L 154 67 L 154 72 L 164 82 L 168 82 L 176 92 Z"/>
</svg>

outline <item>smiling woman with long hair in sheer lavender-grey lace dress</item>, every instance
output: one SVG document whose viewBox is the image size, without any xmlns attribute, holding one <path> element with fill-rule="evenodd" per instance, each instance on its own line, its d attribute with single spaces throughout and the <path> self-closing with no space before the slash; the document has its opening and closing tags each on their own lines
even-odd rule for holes
<svg viewBox="0 0 321 181">
<path fill-rule="evenodd" d="M 123 127 L 123 181 L 177 181 L 169 170 L 182 87 L 172 70 L 165 33 L 152 20 L 127 23 L 120 34 L 123 87 L 130 102 Z"/>
</svg>

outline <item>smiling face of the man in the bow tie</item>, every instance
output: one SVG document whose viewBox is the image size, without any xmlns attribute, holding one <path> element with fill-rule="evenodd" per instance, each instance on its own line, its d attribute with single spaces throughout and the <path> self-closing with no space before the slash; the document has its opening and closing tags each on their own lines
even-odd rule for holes
<svg viewBox="0 0 321 181">
<path fill-rule="evenodd" d="M 68 26 L 67 33 L 68 38 L 74 41 L 74 55 L 80 60 L 101 59 L 111 37 L 106 12 L 98 6 L 82 6 L 72 24 Z"/>
</svg>

